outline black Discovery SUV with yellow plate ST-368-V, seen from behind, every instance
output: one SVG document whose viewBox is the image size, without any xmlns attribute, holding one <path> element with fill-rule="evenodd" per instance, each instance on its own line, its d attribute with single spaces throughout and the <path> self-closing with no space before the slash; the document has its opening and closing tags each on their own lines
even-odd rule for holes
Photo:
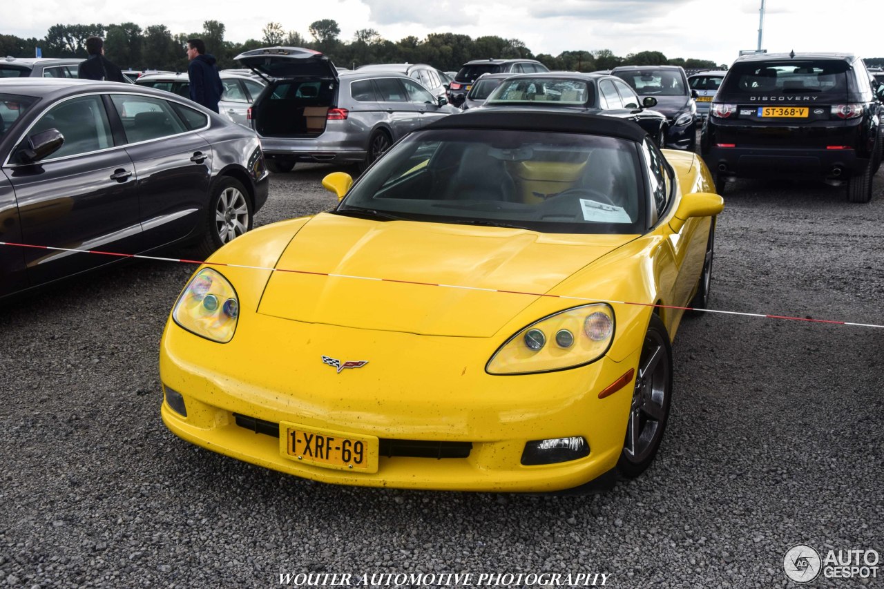
<svg viewBox="0 0 884 589">
<path fill-rule="evenodd" d="M 736 177 L 813 174 L 872 199 L 884 89 L 846 53 L 747 55 L 731 65 L 709 109 L 700 149 L 719 192 Z"/>
</svg>

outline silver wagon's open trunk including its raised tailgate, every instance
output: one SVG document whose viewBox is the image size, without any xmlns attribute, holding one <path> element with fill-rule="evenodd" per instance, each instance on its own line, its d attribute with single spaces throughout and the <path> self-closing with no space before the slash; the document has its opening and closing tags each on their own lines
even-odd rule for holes
<svg viewBox="0 0 884 589">
<path fill-rule="evenodd" d="M 269 87 L 252 107 L 263 137 L 316 137 L 338 101 L 338 70 L 328 57 L 300 47 L 269 47 L 236 57 Z"/>
</svg>

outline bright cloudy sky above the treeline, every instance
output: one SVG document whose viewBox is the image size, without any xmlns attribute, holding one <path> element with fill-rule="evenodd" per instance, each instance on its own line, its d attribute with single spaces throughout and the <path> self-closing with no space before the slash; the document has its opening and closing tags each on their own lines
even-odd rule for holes
<svg viewBox="0 0 884 589">
<path fill-rule="evenodd" d="M 334 19 L 345 41 L 361 28 L 377 29 L 391 41 L 429 33 L 489 34 L 520 39 L 534 53 L 608 49 L 623 57 L 659 50 L 667 57 L 730 64 L 739 50 L 758 46 L 760 5 L 761 0 L 42 0 L 5 3 L 0 34 L 42 37 L 58 23 L 126 21 L 141 27 L 164 24 L 173 34 L 193 33 L 202 30 L 204 20 L 215 19 L 225 24 L 228 41 L 243 42 L 260 39 L 271 21 L 309 38 L 311 22 Z M 854 0 L 842 6 L 845 10 L 839 6 L 820 0 L 766 0 L 763 47 L 769 52 L 832 50 L 884 57 L 875 28 L 857 30 L 859 19 L 870 25 L 880 19 L 880 4 Z"/>
</svg>

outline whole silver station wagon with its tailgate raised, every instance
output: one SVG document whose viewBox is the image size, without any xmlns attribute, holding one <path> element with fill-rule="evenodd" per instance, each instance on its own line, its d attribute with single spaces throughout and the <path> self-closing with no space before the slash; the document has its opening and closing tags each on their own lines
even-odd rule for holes
<svg viewBox="0 0 884 589">
<path fill-rule="evenodd" d="M 339 72 L 313 50 L 272 47 L 236 59 L 268 82 L 249 117 L 272 172 L 297 162 L 364 170 L 403 135 L 460 112 L 406 75 Z"/>
</svg>

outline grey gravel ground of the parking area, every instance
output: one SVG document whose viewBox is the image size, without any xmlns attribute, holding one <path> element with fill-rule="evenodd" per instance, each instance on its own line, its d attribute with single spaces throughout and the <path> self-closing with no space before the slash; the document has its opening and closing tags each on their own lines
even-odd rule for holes
<svg viewBox="0 0 884 589">
<path fill-rule="evenodd" d="M 331 170 L 274 175 L 258 224 L 330 207 Z M 728 188 L 714 309 L 884 324 L 884 171 L 868 205 L 816 183 Z M 158 342 L 192 270 L 130 264 L 4 305 L 0 586 L 605 573 L 613 587 L 773 587 L 792 585 L 782 558 L 799 543 L 882 555 L 879 578 L 809 586 L 884 586 L 884 330 L 687 318 L 657 462 L 606 493 L 326 486 L 191 446 L 160 421 Z"/>
</svg>

